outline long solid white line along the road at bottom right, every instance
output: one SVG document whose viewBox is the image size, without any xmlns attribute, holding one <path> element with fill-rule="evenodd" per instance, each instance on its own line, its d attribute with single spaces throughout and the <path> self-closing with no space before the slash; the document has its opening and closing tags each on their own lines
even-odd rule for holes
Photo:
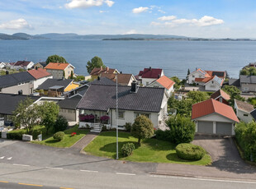
<svg viewBox="0 0 256 189">
<path fill-rule="evenodd" d="M 246 184 L 256 184 L 256 182 L 250 181 L 237 181 L 237 180 L 221 180 L 213 178 L 201 178 L 201 177 L 175 177 L 175 176 L 164 176 L 164 175 L 150 175 L 150 177 L 169 177 L 169 178 L 178 178 L 183 180 L 197 180 L 197 181 L 211 181 L 211 182 L 235 182 L 235 183 L 246 183 Z"/>
</svg>

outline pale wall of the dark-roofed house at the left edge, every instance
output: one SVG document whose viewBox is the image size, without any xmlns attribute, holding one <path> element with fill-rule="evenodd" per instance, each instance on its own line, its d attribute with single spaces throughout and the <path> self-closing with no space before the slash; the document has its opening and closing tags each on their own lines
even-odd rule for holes
<svg viewBox="0 0 256 189">
<path fill-rule="evenodd" d="M 0 93 L 18 94 L 19 90 L 22 90 L 23 95 L 31 95 L 34 90 L 33 81 L 3 88 Z"/>
</svg>

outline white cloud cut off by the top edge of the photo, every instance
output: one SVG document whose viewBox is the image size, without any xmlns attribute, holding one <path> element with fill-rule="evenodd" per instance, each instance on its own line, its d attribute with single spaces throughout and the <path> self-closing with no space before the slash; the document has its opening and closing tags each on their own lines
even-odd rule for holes
<svg viewBox="0 0 256 189">
<path fill-rule="evenodd" d="M 115 2 L 110 0 L 71 0 L 71 2 L 66 3 L 66 8 L 88 8 L 88 7 L 100 7 L 104 3 L 108 7 L 112 7 Z"/>
</svg>

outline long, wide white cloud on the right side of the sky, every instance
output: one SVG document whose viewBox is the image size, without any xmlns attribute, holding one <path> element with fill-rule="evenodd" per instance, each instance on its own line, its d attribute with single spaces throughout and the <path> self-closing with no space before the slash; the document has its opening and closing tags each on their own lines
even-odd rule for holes
<svg viewBox="0 0 256 189">
<path fill-rule="evenodd" d="M 165 22 L 151 22 L 150 25 L 168 25 L 168 26 L 178 26 L 178 25 L 197 25 L 197 26 L 208 26 L 208 25 L 220 25 L 224 21 L 221 19 L 216 19 L 212 16 L 202 16 L 200 19 L 176 19 L 176 16 L 162 16 L 158 18 L 159 21 Z"/>
</svg>

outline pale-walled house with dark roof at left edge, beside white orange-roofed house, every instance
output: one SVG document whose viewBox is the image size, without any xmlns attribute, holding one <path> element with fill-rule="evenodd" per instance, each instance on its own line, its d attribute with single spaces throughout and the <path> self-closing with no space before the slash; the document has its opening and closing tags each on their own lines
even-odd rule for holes
<svg viewBox="0 0 256 189">
<path fill-rule="evenodd" d="M 35 78 L 27 71 L 0 76 L 0 93 L 31 95 Z"/>
</svg>

